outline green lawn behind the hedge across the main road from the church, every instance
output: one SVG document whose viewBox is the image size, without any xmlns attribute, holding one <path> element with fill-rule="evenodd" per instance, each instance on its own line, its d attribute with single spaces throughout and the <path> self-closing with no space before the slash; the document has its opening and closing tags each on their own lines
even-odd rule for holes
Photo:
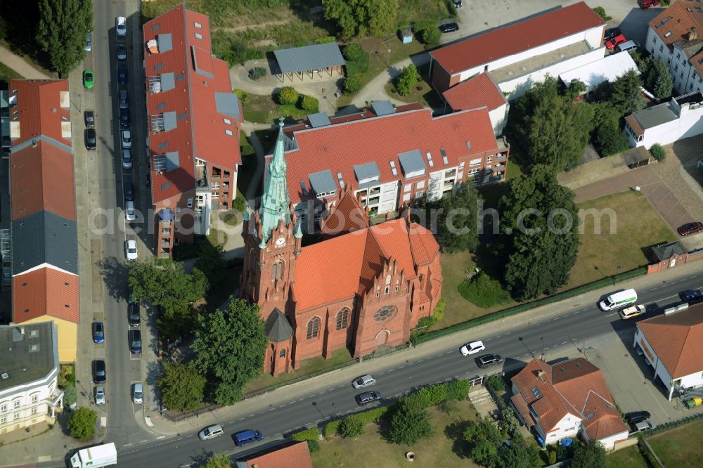
<svg viewBox="0 0 703 468">
<path fill-rule="evenodd" d="M 378 424 L 368 424 L 366 433 L 356 440 L 334 436 L 320 442 L 320 450 L 312 453 L 312 463 L 322 467 L 477 467 L 467 456 L 468 444 L 463 440 L 467 422 L 477 420 L 476 410 L 468 401 L 453 403 L 451 415 L 435 408 L 432 415 L 434 434 L 413 446 L 389 443 L 379 433 Z M 361 450 L 361 452 L 360 452 Z M 415 452 L 415 462 L 408 465 L 405 454 Z M 363 459 L 363 462 L 360 460 Z"/>
</svg>

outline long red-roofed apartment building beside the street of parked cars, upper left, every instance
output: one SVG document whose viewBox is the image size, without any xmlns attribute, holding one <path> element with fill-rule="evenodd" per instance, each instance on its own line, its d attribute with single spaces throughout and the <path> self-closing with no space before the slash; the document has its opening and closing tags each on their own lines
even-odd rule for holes
<svg viewBox="0 0 703 468">
<path fill-rule="evenodd" d="M 157 256 L 207 234 L 237 195 L 242 106 L 212 55 L 207 15 L 183 4 L 143 26 Z"/>
</svg>

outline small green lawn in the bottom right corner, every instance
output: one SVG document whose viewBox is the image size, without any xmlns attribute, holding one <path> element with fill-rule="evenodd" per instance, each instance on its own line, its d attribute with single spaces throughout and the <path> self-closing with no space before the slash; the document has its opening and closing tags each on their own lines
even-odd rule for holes
<svg viewBox="0 0 703 468">
<path fill-rule="evenodd" d="M 700 446 L 703 441 L 703 421 L 698 420 L 684 426 L 647 437 L 659 459 L 666 467 L 699 467 Z"/>
</svg>

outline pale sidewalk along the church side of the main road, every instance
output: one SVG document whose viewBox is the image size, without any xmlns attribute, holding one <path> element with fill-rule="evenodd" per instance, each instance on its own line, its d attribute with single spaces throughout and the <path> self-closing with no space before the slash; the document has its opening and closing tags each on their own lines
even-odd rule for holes
<svg viewBox="0 0 703 468">
<path fill-rule="evenodd" d="M 675 278 L 688 278 L 692 275 L 700 273 L 700 271 L 701 266 L 695 264 L 694 262 L 692 264 L 677 266 L 676 268 L 667 270 L 664 273 L 639 277 L 627 282 L 626 284 L 627 287 L 647 290 L 656 285 L 661 285 L 663 282 L 671 282 L 671 280 Z M 619 285 L 619 287 L 624 287 L 624 284 Z M 304 398 L 306 396 L 310 396 L 311 394 L 315 394 L 322 389 L 347 384 L 354 377 L 361 374 L 378 373 L 380 370 L 385 368 L 407 365 L 408 363 L 413 363 L 416 360 L 423 359 L 427 356 L 436 356 L 437 354 L 444 352 L 446 349 L 458 348 L 458 346 L 465 343 L 468 339 L 476 337 L 477 334 L 489 335 L 496 332 L 502 332 L 503 330 L 508 330 L 513 327 L 520 327 L 526 324 L 529 325 L 530 323 L 538 323 L 547 318 L 552 318 L 553 316 L 562 314 L 565 308 L 569 307 L 569 304 L 595 304 L 595 302 L 602 297 L 602 294 L 605 294 L 612 289 L 612 286 L 603 287 L 600 290 L 587 292 L 560 303 L 541 306 L 517 316 L 496 320 L 493 323 L 482 325 L 480 327 L 471 328 L 469 330 L 457 332 L 446 337 L 434 339 L 430 342 L 420 344 L 415 348 L 411 347 L 383 358 L 366 360 L 363 363 L 328 372 L 318 377 L 303 380 L 302 382 L 283 386 L 281 389 L 285 391 L 285 398 L 287 400 Z M 161 418 L 157 413 L 152 412 L 150 415 L 149 424 L 153 424 L 151 429 L 159 434 L 183 434 L 184 432 L 202 429 L 202 427 L 207 424 L 228 422 L 231 420 L 236 420 L 238 417 L 242 417 L 243 415 L 250 415 L 252 412 L 266 410 L 274 405 L 280 404 L 281 398 L 283 397 L 280 396 L 278 391 L 271 391 L 268 394 L 259 395 L 254 398 L 250 398 L 247 401 L 241 401 L 236 405 L 207 412 L 197 418 L 193 417 L 178 423 L 167 421 Z"/>
</svg>

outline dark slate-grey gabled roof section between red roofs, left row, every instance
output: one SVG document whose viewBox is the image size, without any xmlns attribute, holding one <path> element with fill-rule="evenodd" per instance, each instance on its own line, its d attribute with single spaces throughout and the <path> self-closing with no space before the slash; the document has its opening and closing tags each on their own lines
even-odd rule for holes
<svg viewBox="0 0 703 468">
<path fill-rule="evenodd" d="M 76 221 L 42 210 L 12 221 L 12 274 L 49 264 L 78 274 Z"/>
</svg>

